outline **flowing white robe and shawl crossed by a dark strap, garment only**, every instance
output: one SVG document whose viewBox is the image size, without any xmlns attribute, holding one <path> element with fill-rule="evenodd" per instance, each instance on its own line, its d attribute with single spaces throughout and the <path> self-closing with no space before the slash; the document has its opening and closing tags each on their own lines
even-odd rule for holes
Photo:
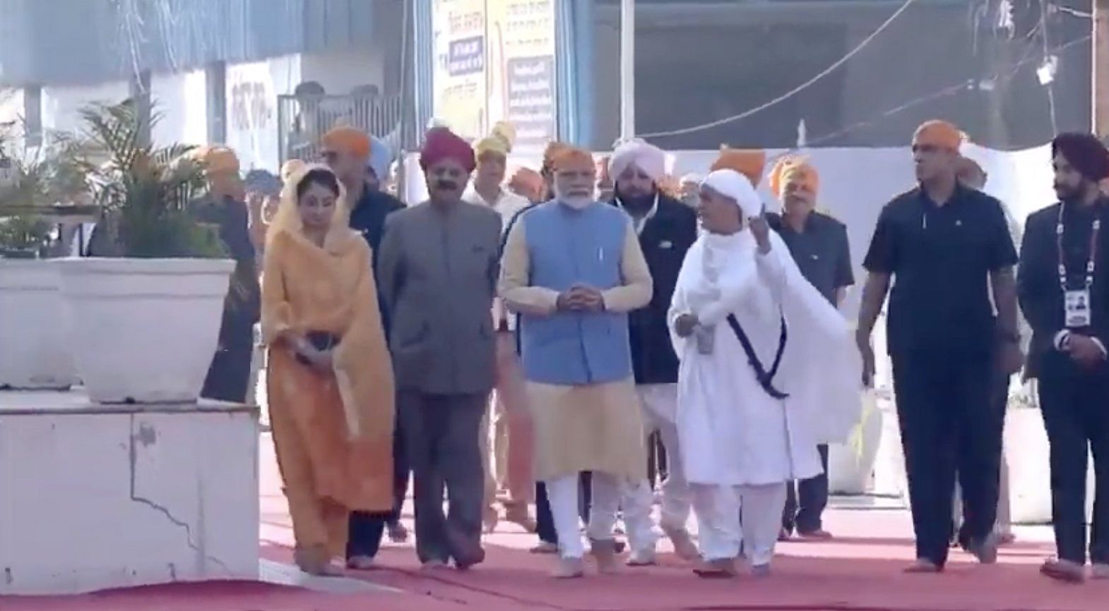
<svg viewBox="0 0 1109 611">
<path fill-rule="evenodd" d="M 670 310 L 679 369 L 679 441 L 692 484 L 742 486 L 803 479 L 821 473 L 817 444 L 845 441 L 859 418 L 862 364 L 847 321 L 801 275 L 782 239 L 756 252 L 749 230 L 703 234 L 682 265 Z M 712 328 L 711 354 L 673 323 L 696 314 Z M 735 315 L 766 370 L 777 351 L 781 320 L 787 341 L 772 397 L 759 384 L 725 320 Z"/>
</svg>

